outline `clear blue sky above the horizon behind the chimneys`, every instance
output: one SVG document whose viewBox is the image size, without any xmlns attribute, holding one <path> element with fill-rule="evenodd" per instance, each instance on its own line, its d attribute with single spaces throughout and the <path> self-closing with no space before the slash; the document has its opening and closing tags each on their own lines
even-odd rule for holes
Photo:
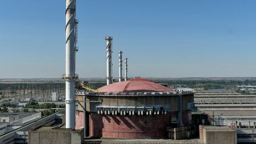
<svg viewBox="0 0 256 144">
<path fill-rule="evenodd" d="M 1 1 L 0 78 L 65 73 L 65 1 Z M 113 36 L 129 76 L 243 77 L 256 73 L 256 1 L 77 0 L 79 77 L 106 76 Z"/>
</svg>

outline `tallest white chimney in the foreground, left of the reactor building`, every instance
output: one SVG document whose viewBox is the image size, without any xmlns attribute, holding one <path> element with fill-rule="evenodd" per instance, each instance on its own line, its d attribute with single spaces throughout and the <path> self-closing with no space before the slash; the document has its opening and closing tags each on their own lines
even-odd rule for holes
<svg viewBox="0 0 256 144">
<path fill-rule="evenodd" d="M 66 0 L 66 128 L 75 128 L 75 0 Z"/>
</svg>

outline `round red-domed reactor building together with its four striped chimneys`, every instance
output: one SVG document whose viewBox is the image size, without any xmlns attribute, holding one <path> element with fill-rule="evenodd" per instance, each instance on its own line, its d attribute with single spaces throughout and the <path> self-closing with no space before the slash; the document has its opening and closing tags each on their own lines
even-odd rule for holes
<svg viewBox="0 0 256 144">
<path fill-rule="evenodd" d="M 98 90 L 75 92 L 76 9 L 66 8 L 66 128 L 84 129 L 85 137 L 167 137 L 174 128 L 191 124 L 194 93 L 170 89 L 145 78 L 122 76 L 122 51 L 118 58 L 118 82 L 113 80 L 113 37 L 106 36 L 106 85 Z M 103 66 L 103 65 L 102 65 Z M 85 87 L 86 88 L 86 87 Z M 75 96 L 77 101 L 75 101 Z M 79 105 L 75 109 L 75 102 Z"/>
</svg>

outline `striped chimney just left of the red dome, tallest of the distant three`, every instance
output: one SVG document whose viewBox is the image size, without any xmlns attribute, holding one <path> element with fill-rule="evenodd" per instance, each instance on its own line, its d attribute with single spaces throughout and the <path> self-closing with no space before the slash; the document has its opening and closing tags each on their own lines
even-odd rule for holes
<svg viewBox="0 0 256 144">
<path fill-rule="evenodd" d="M 112 40 L 111 36 L 106 36 L 105 40 L 107 41 L 107 85 L 111 84 L 111 65 L 112 65 Z"/>
</svg>

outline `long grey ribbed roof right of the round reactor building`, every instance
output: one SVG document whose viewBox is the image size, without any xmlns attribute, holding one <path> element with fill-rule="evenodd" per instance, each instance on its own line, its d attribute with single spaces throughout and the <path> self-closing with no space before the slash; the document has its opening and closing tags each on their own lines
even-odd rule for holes
<svg viewBox="0 0 256 144">
<path fill-rule="evenodd" d="M 195 91 L 197 110 L 256 110 L 256 95 L 234 91 Z"/>
</svg>

